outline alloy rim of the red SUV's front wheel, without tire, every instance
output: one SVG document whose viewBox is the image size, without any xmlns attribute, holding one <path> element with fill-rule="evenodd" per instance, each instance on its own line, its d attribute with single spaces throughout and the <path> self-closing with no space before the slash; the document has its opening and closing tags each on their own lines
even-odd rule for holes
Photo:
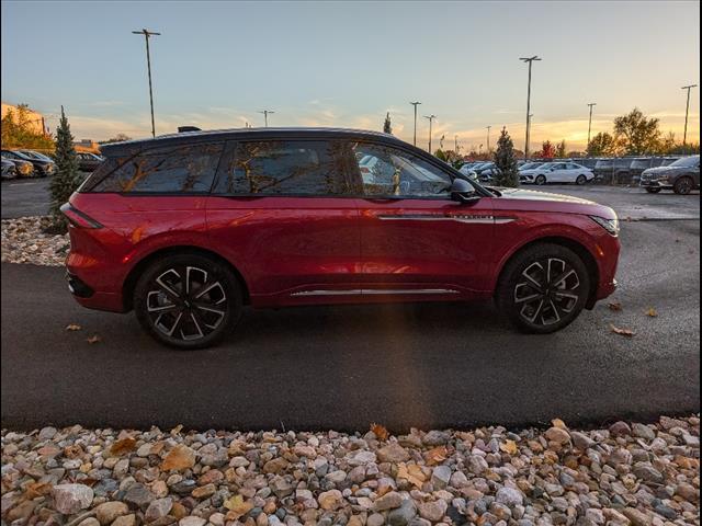
<svg viewBox="0 0 702 526">
<path fill-rule="evenodd" d="M 552 325 L 570 315 L 578 300 L 580 278 L 566 261 L 545 258 L 531 263 L 514 286 L 519 316 L 536 325 Z"/>
</svg>

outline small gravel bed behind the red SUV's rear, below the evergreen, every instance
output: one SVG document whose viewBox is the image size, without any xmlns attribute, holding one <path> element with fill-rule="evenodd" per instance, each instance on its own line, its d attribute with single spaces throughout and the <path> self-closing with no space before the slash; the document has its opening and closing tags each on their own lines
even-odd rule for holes
<svg viewBox="0 0 702 526">
<path fill-rule="evenodd" d="M 2 219 L 2 261 L 60 266 L 70 248 L 68 235 L 44 233 L 48 217 Z"/>
</svg>

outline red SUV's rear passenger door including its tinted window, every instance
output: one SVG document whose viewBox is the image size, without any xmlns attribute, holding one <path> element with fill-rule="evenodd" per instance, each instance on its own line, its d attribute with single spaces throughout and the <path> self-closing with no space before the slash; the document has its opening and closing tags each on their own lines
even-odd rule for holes
<svg viewBox="0 0 702 526">
<path fill-rule="evenodd" d="M 230 142 L 207 203 L 210 240 L 239 271 L 254 305 L 331 301 L 356 288 L 359 188 L 346 145 Z"/>
</svg>

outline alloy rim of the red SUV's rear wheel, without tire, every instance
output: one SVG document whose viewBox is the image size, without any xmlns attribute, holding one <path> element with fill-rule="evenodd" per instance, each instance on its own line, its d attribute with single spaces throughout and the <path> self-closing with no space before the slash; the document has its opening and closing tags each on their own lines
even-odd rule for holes
<svg viewBox="0 0 702 526">
<path fill-rule="evenodd" d="M 176 266 L 150 284 L 146 310 L 161 334 L 182 341 L 206 338 L 224 321 L 227 295 L 222 283 L 196 266 Z"/>
</svg>

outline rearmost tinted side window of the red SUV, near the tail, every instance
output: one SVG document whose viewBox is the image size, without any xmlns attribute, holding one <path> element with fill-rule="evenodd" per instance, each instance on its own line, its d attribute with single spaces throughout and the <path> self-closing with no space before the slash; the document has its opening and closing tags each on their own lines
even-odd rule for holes
<svg viewBox="0 0 702 526">
<path fill-rule="evenodd" d="M 83 192 L 207 193 L 217 171 L 223 142 L 154 148 L 133 157 L 104 161 Z"/>
</svg>

